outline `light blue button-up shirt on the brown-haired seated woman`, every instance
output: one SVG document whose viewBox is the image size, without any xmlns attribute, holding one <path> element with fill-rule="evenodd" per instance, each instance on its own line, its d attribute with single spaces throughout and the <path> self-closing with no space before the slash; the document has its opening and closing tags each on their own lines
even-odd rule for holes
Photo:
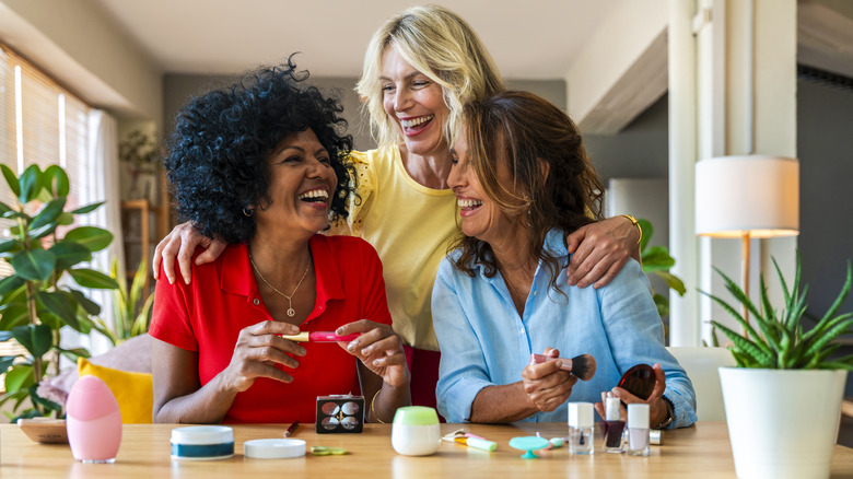
<svg viewBox="0 0 853 479">
<path fill-rule="evenodd" d="M 568 265 L 562 238 L 562 232 L 552 230 L 545 244 L 560 265 Z M 562 267 L 557 287 L 565 296 L 549 290 L 548 269 L 540 262 L 519 317 L 501 273 L 487 278 L 484 268 L 477 265 L 474 278 L 468 277 L 451 262 L 458 255 L 454 252 L 442 261 L 432 293 L 442 353 L 436 397 L 439 411 L 448 422 L 468 421 L 480 389 L 522 381 L 530 354 L 549 347 L 559 349 L 562 358 L 583 353 L 595 358 L 595 376 L 579 381 L 569 401 L 599 402 L 601 392 L 614 388 L 631 366 L 657 362 L 666 373 L 664 395 L 675 406 L 676 420 L 669 428 L 696 422 L 693 386 L 664 348 L 651 284 L 636 261 L 629 260 L 598 290 L 569 287 Z M 563 404 L 523 421 L 565 422 L 566 414 Z"/>
</svg>

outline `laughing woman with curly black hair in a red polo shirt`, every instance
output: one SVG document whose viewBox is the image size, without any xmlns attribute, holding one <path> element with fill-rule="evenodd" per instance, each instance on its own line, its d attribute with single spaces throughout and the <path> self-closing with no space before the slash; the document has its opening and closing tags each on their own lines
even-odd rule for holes
<svg viewBox="0 0 853 479">
<path fill-rule="evenodd" d="M 231 245 L 191 284 L 160 274 L 155 422 L 314 422 L 317 396 L 354 390 L 372 398 L 369 421 L 410 404 L 376 252 L 317 234 L 347 215 L 352 139 L 306 78 L 290 61 L 260 69 L 178 115 L 165 161 L 178 213 Z M 359 335 L 282 337 L 312 331 Z"/>
</svg>

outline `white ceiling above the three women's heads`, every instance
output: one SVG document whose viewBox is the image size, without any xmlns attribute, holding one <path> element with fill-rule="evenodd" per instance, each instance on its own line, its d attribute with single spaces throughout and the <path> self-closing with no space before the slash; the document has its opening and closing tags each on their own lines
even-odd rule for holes
<svg viewBox="0 0 853 479">
<path fill-rule="evenodd" d="M 399 0 L 93 0 L 165 73 L 233 74 L 301 51 L 317 77 L 359 77 Z M 440 0 L 466 19 L 511 79 L 563 79 L 585 38 L 633 0 Z"/>
</svg>

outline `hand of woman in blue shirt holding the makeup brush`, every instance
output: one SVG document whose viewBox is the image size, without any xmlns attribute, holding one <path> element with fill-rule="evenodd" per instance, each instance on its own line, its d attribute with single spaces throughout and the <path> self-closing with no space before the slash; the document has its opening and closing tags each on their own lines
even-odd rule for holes
<svg viewBox="0 0 853 479">
<path fill-rule="evenodd" d="M 560 351 L 546 348 L 545 355 L 558 358 Z M 553 411 L 565 402 L 577 383 L 577 377 L 561 370 L 561 365 L 559 360 L 546 361 L 541 364 L 528 364 L 522 371 L 524 392 L 540 411 Z"/>
</svg>

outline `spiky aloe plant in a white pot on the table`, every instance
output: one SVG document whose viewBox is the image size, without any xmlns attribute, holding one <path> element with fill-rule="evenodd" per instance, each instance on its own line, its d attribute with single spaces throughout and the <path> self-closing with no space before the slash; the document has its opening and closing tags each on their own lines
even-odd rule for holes
<svg viewBox="0 0 853 479">
<path fill-rule="evenodd" d="M 775 259 L 773 265 L 784 293 L 781 309 L 770 303 L 763 277 L 757 306 L 717 270 L 757 329 L 728 303 L 709 294 L 745 330 L 741 335 L 711 322 L 733 342 L 729 350 L 737 363 L 737 367 L 720 369 L 735 469 L 743 478 L 827 478 L 844 383 L 853 369 L 853 355 L 832 357 L 841 346 L 837 339 L 853 332 L 853 313 L 839 314 L 853 283 L 851 266 L 848 262 L 838 299 L 806 330 L 802 319 L 808 287 L 801 291 L 799 255 L 790 290 Z"/>
</svg>

